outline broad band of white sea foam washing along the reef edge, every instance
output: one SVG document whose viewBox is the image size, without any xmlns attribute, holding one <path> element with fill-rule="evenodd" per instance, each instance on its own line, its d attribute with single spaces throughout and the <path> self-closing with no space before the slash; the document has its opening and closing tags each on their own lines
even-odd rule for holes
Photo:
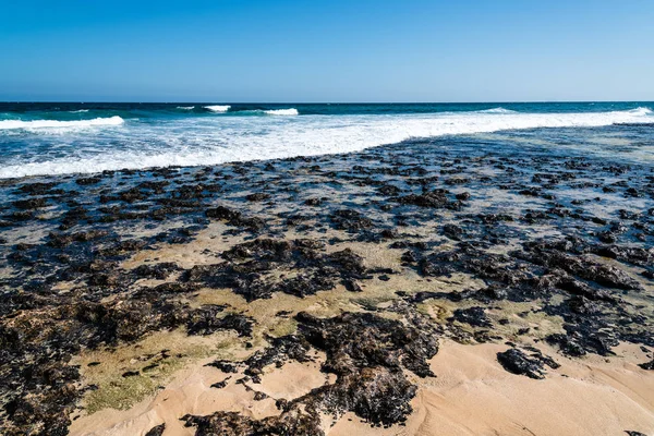
<svg viewBox="0 0 654 436">
<path fill-rule="evenodd" d="M 48 145 L 52 146 L 51 142 L 59 141 L 61 144 L 57 143 L 57 149 L 69 150 L 55 158 L 19 156 L 0 166 L 0 178 L 217 165 L 351 153 L 417 137 L 535 128 L 593 128 L 617 123 L 654 124 L 654 117 L 649 108 L 638 108 L 580 113 L 185 118 L 167 123 L 129 123 L 110 135 L 104 135 L 101 130 L 72 131 L 55 137 L 35 135 L 35 142 L 49 141 Z"/>
</svg>

